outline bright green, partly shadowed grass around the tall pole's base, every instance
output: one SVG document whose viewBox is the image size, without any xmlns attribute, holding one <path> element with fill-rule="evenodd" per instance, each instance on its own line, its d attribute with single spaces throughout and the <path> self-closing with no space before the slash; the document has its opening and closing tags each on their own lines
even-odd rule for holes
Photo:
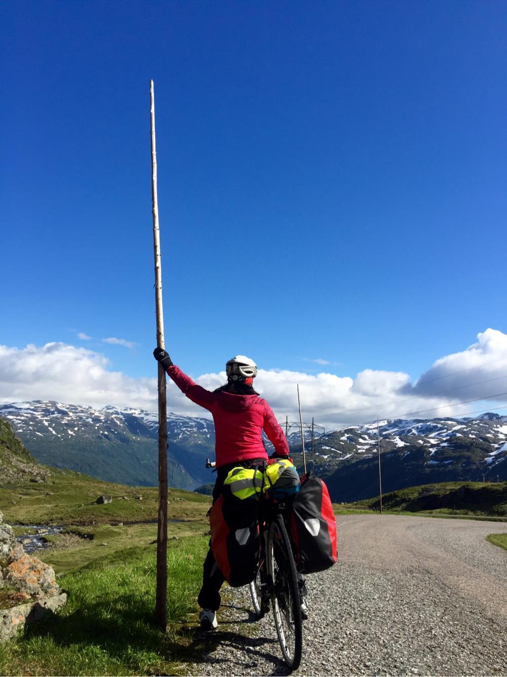
<svg viewBox="0 0 507 677">
<path fill-rule="evenodd" d="M 169 542 L 166 634 L 153 622 L 155 546 L 121 550 L 59 578 L 67 605 L 0 645 L 0 674 L 182 674 L 212 642 L 195 632 L 207 548 L 204 536 Z"/>
</svg>

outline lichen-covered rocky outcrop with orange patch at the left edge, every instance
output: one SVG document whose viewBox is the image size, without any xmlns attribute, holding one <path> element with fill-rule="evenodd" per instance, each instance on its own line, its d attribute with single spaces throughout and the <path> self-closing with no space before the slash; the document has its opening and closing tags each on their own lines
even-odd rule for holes
<svg viewBox="0 0 507 677">
<path fill-rule="evenodd" d="M 3 593 L 3 594 L 2 594 Z M 0 641 L 66 603 L 53 569 L 24 552 L 0 512 Z M 6 608 L 1 608 L 6 607 Z"/>
</svg>

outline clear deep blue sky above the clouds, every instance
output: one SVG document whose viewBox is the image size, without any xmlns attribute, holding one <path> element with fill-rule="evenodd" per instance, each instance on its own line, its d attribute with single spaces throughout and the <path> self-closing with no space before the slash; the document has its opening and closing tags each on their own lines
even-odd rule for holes
<svg viewBox="0 0 507 677">
<path fill-rule="evenodd" d="M 185 370 L 244 353 L 415 379 L 507 333 L 503 1 L 0 12 L 0 344 L 153 376 L 150 78 L 166 343 Z"/>
</svg>

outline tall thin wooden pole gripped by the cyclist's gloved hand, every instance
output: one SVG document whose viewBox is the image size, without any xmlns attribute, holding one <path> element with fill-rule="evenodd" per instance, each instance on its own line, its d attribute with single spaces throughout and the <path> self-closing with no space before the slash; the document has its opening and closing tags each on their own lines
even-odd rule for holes
<svg viewBox="0 0 507 677">
<path fill-rule="evenodd" d="M 155 95 L 149 81 L 151 112 L 151 204 L 153 213 L 153 253 L 155 255 L 155 311 L 157 345 L 164 348 L 164 310 L 162 309 L 162 261 L 158 228 L 157 150 L 155 146 Z M 157 592 L 155 617 L 162 630 L 167 627 L 167 401 L 166 371 L 158 363 L 158 531 Z"/>
</svg>

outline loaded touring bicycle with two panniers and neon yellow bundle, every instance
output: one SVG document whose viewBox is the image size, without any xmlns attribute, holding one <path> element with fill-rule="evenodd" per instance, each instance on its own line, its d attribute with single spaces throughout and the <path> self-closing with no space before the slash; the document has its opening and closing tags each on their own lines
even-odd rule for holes
<svg viewBox="0 0 507 677">
<path fill-rule="evenodd" d="M 206 466 L 214 463 L 207 460 Z M 301 574 L 327 569 L 337 559 L 335 517 L 325 485 L 308 473 L 301 478 L 301 492 L 299 487 L 291 460 L 238 466 L 229 471 L 210 510 L 220 571 L 231 586 L 249 585 L 258 619 L 271 607 L 291 670 L 299 667 L 303 649 Z"/>
</svg>

